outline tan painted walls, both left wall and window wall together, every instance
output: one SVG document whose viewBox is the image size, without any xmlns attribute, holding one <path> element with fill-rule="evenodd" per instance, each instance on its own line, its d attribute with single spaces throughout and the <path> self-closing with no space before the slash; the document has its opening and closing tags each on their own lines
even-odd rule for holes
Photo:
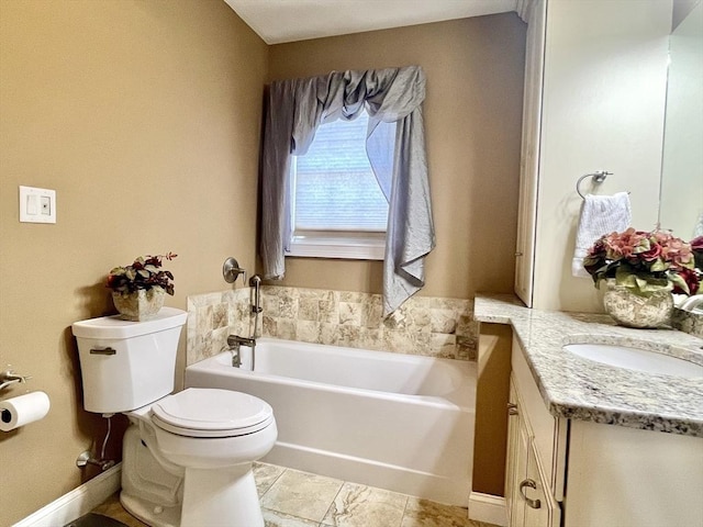
<svg viewBox="0 0 703 527">
<path fill-rule="evenodd" d="M 423 66 L 438 242 L 423 294 L 510 291 L 524 31 L 511 13 L 267 48 L 220 0 L 0 0 L 0 367 L 33 375 L 2 397 L 52 400 L 0 435 L 0 525 L 76 487 L 102 439 L 70 324 L 112 312 L 107 272 L 177 253 L 167 304 L 186 309 L 226 289 L 226 256 L 254 269 L 267 80 Z M 20 184 L 56 190 L 56 225 L 19 223 Z M 381 267 L 290 259 L 284 283 L 379 292 Z"/>
</svg>

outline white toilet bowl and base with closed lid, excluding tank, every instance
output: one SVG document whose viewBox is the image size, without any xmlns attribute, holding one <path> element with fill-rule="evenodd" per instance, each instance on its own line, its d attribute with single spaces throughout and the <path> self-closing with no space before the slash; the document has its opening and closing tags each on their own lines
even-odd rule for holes
<svg viewBox="0 0 703 527">
<path fill-rule="evenodd" d="M 138 435 L 127 441 L 125 434 L 120 500 L 134 516 L 153 527 L 221 525 L 223 518 L 227 526 L 264 526 L 252 466 L 278 434 L 266 402 L 189 388 L 126 415 Z M 144 444 L 146 452 L 127 453 Z M 149 456 L 161 470 L 145 462 Z M 135 481 L 133 472 L 144 464 L 155 481 Z"/>
</svg>

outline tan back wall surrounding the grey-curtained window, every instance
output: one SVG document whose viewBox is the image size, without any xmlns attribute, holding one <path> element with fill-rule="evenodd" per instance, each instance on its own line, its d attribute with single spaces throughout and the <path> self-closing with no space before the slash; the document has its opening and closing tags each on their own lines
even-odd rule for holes
<svg viewBox="0 0 703 527">
<path fill-rule="evenodd" d="M 513 284 L 525 24 L 515 13 L 270 48 L 269 79 L 420 65 L 437 248 L 421 294 Z M 380 292 L 381 262 L 287 258 L 283 284 Z"/>
</svg>

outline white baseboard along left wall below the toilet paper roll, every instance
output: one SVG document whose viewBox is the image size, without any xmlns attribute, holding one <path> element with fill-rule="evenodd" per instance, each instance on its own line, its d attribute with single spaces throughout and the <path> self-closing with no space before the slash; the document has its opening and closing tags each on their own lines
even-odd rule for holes
<svg viewBox="0 0 703 527">
<path fill-rule="evenodd" d="M 56 527 L 88 514 L 120 490 L 122 463 L 64 494 L 12 527 Z"/>
</svg>

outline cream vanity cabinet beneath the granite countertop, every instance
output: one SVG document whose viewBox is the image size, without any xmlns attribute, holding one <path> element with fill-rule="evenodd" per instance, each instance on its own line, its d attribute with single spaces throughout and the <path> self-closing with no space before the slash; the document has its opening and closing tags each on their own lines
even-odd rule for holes
<svg viewBox="0 0 703 527">
<path fill-rule="evenodd" d="M 511 366 L 511 527 L 703 525 L 703 438 L 555 417 L 516 338 Z"/>
</svg>

